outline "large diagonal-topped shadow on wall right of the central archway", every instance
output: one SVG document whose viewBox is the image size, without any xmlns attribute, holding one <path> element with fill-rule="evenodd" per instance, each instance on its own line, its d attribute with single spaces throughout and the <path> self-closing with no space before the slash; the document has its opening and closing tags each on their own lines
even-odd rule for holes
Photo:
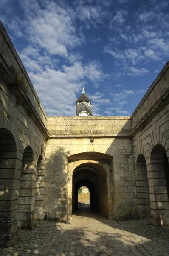
<svg viewBox="0 0 169 256">
<path fill-rule="evenodd" d="M 131 119 L 119 120 L 124 124 L 121 130 L 118 128 L 118 122 L 112 128 L 115 136 L 104 139 L 110 141 L 111 145 L 107 147 L 106 154 L 113 156 L 112 164 L 112 201 L 114 209 L 114 219 L 116 221 L 130 218 L 138 218 L 138 205 L 135 183 L 135 165 L 133 156 L 133 146 L 131 138 L 132 122 Z M 94 143 L 93 143 L 94 144 Z M 93 145 L 94 147 L 94 145 Z"/>
</svg>

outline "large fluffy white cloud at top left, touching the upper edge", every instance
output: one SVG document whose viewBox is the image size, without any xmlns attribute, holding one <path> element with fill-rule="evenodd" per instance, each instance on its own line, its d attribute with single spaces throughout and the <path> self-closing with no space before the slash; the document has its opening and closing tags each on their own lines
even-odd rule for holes
<svg viewBox="0 0 169 256">
<path fill-rule="evenodd" d="M 20 5 L 28 19 L 25 26 L 32 44 L 44 48 L 51 55 L 64 57 L 68 57 L 70 49 L 82 44 L 84 38 L 76 31 L 69 13 L 56 3 L 48 1 L 44 9 L 35 0 L 30 6 L 28 2 L 20 0 Z M 34 18 L 31 18 L 32 15 Z"/>
</svg>

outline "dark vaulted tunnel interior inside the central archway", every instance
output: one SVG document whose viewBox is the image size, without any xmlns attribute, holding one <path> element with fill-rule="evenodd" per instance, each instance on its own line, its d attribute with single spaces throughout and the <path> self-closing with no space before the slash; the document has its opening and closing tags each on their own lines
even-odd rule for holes
<svg viewBox="0 0 169 256">
<path fill-rule="evenodd" d="M 72 212 L 79 210 L 78 190 L 80 187 L 86 186 L 90 191 L 90 210 L 93 212 L 102 212 L 104 217 L 107 218 L 106 171 L 101 166 L 100 168 L 97 165 L 91 166 L 91 164 L 82 164 L 73 172 Z"/>
</svg>

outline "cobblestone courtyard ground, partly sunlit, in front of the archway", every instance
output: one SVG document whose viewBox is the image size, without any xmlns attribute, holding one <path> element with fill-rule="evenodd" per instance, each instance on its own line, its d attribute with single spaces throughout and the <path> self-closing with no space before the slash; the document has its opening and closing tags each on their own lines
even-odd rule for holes
<svg viewBox="0 0 169 256">
<path fill-rule="evenodd" d="M 67 223 L 37 222 L 35 230 L 20 230 L 14 256 L 166 256 L 169 228 L 153 227 L 149 219 L 107 221 L 91 213 L 73 215 Z"/>
</svg>

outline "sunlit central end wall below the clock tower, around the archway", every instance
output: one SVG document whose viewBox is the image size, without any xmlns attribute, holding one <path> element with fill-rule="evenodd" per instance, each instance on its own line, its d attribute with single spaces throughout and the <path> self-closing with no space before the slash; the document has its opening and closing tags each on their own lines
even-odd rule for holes
<svg viewBox="0 0 169 256">
<path fill-rule="evenodd" d="M 90 163 L 95 163 L 96 160 L 110 162 L 107 168 L 104 168 L 108 186 L 108 198 L 104 203 L 107 204 L 108 218 L 137 216 L 131 125 L 130 118 L 126 116 L 48 117 L 47 128 L 50 140 L 46 147 L 46 170 L 50 172 L 47 179 L 58 180 L 55 184 L 48 184 L 50 187 L 45 211 L 49 212 L 52 218 L 56 211 L 57 215 L 63 216 L 64 212 L 66 215 L 66 205 L 64 207 L 55 196 L 58 188 L 62 191 L 60 198 L 68 197 L 70 203 L 67 214 L 71 215 L 72 176 L 77 163 L 78 166 L 82 164 L 79 163 L 80 160 L 86 165 L 89 165 L 89 160 Z M 94 138 L 93 143 L 90 142 L 91 138 Z M 51 159 L 55 159 L 55 163 Z M 99 162 L 101 161 L 97 161 L 98 164 Z M 68 183 L 66 183 L 67 176 Z M 49 198 L 52 198 L 52 205 Z"/>
</svg>

